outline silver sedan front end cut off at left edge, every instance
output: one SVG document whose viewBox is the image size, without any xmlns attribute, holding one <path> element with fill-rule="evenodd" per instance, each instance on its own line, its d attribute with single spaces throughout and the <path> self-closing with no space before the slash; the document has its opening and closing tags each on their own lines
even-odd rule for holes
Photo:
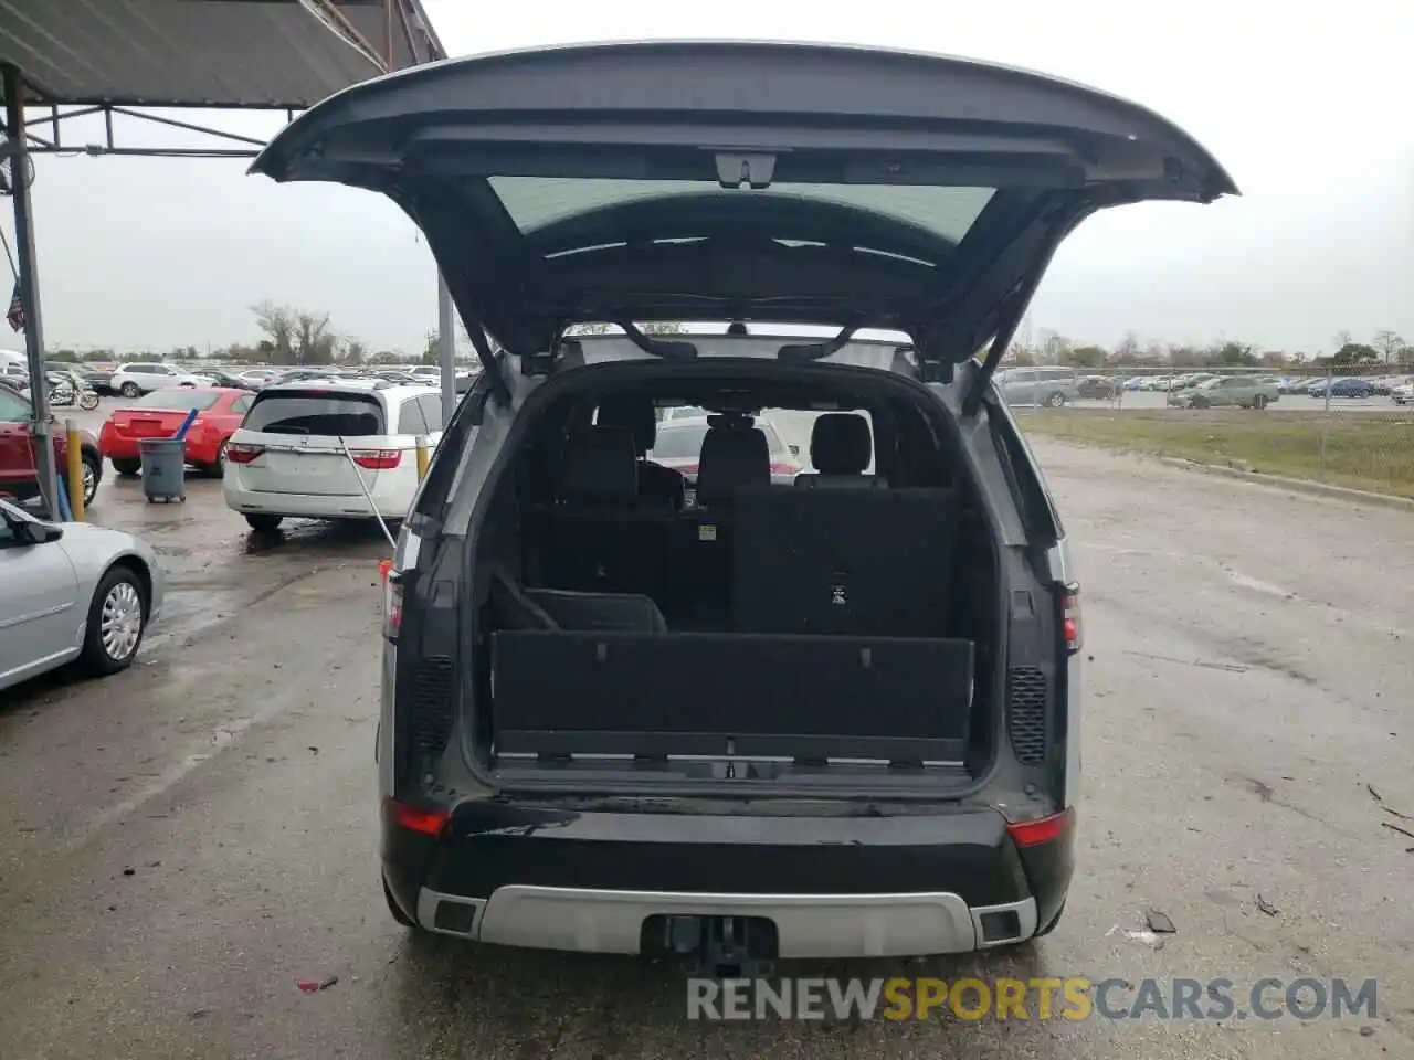
<svg viewBox="0 0 1414 1060">
<path fill-rule="evenodd" d="M 0 500 L 0 688 L 74 660 L 93 674 L 126 669 L 164 587 L 141 538 Z"/>
</svg>

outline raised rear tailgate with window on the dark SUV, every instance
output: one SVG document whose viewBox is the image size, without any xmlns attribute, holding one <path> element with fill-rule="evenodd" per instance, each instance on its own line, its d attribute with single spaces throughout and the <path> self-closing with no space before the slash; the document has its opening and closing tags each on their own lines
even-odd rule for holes
<svg viewBox="0 0 1414 1060">
<path fill-rule="evenodd" d="M 1089 213 L 1236 194 L 1184 130 L 1094 89 L 755 42 L 403 71 L 305 112 L 252 168 L 392 195 L 472 339 L 522 356 L 577 319 L 755 318 L 930 332 L 919 355 L 960 362 Z"/>
</svg>

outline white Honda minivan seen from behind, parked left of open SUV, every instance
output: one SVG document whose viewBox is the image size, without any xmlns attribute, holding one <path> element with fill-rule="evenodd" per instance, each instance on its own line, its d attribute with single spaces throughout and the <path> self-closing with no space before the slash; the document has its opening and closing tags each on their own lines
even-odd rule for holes
<svg viewBox="0 0 1414 1060">
<path fill-rule="evenodd" d="M 226 444 L 226 506 L 253 530 L 274 530 L 287 516 L 400 520 L 417 492 L 417 438 L 431 448 L 441 432 L 434 387 L 378 379 L 267 386 Z"/>
</svg>

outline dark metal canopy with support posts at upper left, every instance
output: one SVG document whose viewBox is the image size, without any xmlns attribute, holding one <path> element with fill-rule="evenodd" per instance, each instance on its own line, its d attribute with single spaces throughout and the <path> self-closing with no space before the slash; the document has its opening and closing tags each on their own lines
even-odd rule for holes
<svg viewBox="0 0 1414 1060">
<path fill-rule="evenodd" d="M 54 517 L 59 505 L 30 155 L 83 150 L 249 157 L 260 147 L 250 137 L 141 109 L 303 110 L 380 73 L 444 58 L 421 0 L 0 0 L 0 98 L 7 119 L 0 191 L 14 199 L 17 293 L 47 516 Z M 106 143 L 65 144 L 62 123 L 93 114 L 103 116 Z M 115 119 L 157 122 L 238 146 L 127 148 L 115 137 Z M 441 297 L 447 298 L 445 287 Z M 451 393 L 454 339 L 444 326 L 443 387 Z"/>
</svg>

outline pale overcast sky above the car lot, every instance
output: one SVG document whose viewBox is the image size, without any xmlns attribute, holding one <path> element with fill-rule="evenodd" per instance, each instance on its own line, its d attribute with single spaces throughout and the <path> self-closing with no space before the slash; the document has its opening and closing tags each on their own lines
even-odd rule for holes
<svg viewBox="0 0 1414 1060">
<path fill-rule="evenodd" d="M 1367 339 L 1393 328 L 1414 341 L 1414 4 L 424 4 L 452 55 L 624 38 L 819 40 L 984 58 L 1128 96 L 1212 150 L 1244 196 L 1086 222 L 1036 295 L 1036 335 L 1111 345 L 1134 331 L 1144 342 L 1307 352 L 1329 351 L 1338 331 Z M 256 136 L 280 120 L 202 119 Z M 120 131 L 154 141 L 136 124 Z M 99 136 L 90 127 L 86 139 Z M 264 298 L 325 310 L 337 331 L 375 348 L 420 348 L 436 326 L 426 246 L 368 192 L 280 187 L 246 177 L 240 161 L 65 157 L 38 160 L 34 202 L 49 346 L 253 342 L 249 307 Z M 13 235 L 8 216 L 0 226 Z"/>
</svg>

